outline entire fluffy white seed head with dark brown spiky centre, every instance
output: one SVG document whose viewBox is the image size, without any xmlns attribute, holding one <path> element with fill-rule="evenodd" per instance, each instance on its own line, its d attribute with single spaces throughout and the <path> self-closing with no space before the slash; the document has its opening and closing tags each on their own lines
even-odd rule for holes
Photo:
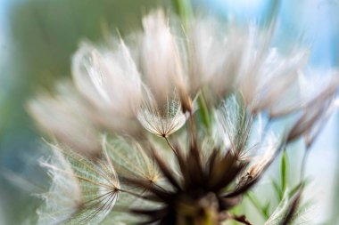
<svg viewBox="0 0 339 225">
<path fill-rule="evenodd" d="M 280 53 L 274 26 L 181 26 L 162 10 L 142 24 L 130 42 L 80 44 L 73 81 L 29 102 L 57 140 L 39 224 L 252 224 L 232 209 L 292 141 L 310 148 L 337 105 L 337 72 L 309 92 L 307 51 Z M 300 196 L 265 224 L 292 222 Z"/>
</svg>

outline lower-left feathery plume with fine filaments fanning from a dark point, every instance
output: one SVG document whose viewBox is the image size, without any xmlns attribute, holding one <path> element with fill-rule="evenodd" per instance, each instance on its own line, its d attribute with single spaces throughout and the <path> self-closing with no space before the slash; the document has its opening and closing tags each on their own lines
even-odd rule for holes
<svg viewBox="0 0 339 225">
<path fill-rule="evenodd" d="M 71 151 L 51 145 L 53 157 L 42 162 L 53 183 L 37 213 L 38 224 L 98 224 L 112 211 L 119 197 L 120 182 L 111 158 L 92 162 Z"/>
</svg>

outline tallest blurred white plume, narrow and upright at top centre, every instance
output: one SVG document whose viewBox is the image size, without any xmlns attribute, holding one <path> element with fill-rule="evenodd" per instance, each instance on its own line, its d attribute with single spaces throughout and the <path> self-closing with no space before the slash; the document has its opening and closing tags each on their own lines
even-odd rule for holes
<svg viewBox="0 0 339 225">
<path fill-rule="evenodd" d="M 157 100 L 165 101 L 172 92 L 173 77 L 184 72 L 178 44 L 162 11 L 145 16 L 143 27 L 140 68 Z"/>
</svg>

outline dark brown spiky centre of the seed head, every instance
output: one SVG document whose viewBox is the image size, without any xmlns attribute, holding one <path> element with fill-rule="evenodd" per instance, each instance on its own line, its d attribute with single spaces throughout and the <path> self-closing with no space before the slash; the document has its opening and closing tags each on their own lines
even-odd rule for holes
<svg viewBox="0 0 339 225">
<path fill-rule="evenodd" d="M 278 153 L 283 148 L 282 143 Z M 203 156 L 198 141 L 193 139 L 189 150 L 185 154 L 178 145 L 173 147 L 176 153 L 178 173 L 159 154 L 159 150 L 152 149 L 152 157 L 159 167 L 164 179 L 170 186 L 155 186 L 153 183 L 139 179 L 128 181 L 139 189 L 145 189 L 146 198 L 161 204 L 154 209 L 132 208 L 131 213 L 146 218 L 138 224 L 186 225 L 186 224 L 221 224 L 222 221 L 236 220 L 244 224 L 251 224 L 245 218 L 231 215 L 228 210 L 241 202 L 244 193 L 259 181 L 263 173 L 273 161 L 271 157 L 256 174 L 246 181 L 238 180 L 243 176 L 249 161 L 240 160 L 231 150 L 222 154 L 219 148 L 211 149 L 208 156 Z M 277 155 L 276 155 L 277 156 Z M 203 157 L 208 157 L 207 164 L 203 165 Z M 237 185 L 236 185 L 237 183 Z M 228 216 L 225 216 L 227 214 Z"/>
</svg>

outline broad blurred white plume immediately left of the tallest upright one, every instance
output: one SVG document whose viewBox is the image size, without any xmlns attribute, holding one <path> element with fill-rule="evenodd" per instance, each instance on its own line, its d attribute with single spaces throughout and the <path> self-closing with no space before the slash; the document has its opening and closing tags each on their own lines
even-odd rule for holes
<svg viewBox="0 0 339 225">
<path fill-rule="evenodd" d="M 142 83 L 122 40 L 114 51 L 81 44 L 72 60 L 72 75 L 79 92 L 95 107 L 96 122 L 113 131 L 130 129 L 128 122 L 135 119 L 142 99 Z"/>
</svg>

